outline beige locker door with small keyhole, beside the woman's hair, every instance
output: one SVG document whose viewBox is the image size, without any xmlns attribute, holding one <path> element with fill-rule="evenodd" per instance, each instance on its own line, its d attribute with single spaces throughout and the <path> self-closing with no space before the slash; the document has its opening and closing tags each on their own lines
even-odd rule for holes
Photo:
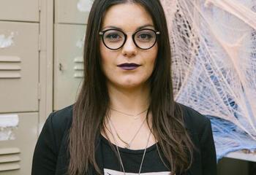
<svg viewBox="0 0 256 175">
<path fill-rule="evenodd" d="M 73 104 L 83 79 L 84 25 L 55 25 L 53 109 Z"/>
</svg>

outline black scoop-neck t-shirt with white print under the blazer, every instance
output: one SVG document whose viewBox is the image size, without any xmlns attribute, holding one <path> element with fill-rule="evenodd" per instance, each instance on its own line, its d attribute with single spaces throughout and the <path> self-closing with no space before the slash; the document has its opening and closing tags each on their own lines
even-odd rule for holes
<svg viewBox="0 0 256 175">
<path fill-rule="evenodd" d="M 113 151 L 113 148 L 110 146 L 110 143 L 104 136 L 100 135 L 102 141 L 100 141 L 103 158 L 103 168 L 105 175 L 124 175 L 124 171 L 127 175 L 138 174 L 140 170 L 140 163 L 143 158 L 144 149 L 132 150 L 118 147 L 121 160 L 124 165 L 124 171 L 121 168 L 121 163 L 118 160 L 116 153 Z M 113 144 L 114 149 L 116 145 Z M 167 175 L 170 174 L 170 170 L 165 167 L 167 160 L 164 156 L 161 157 L 165 164 L 162 162 L 159 153 L 157 151 L 157 144 L 152 145 L 146 149 L 145 158 L 143 165 L 140 171 L 142 175 Z"/>
</svg>

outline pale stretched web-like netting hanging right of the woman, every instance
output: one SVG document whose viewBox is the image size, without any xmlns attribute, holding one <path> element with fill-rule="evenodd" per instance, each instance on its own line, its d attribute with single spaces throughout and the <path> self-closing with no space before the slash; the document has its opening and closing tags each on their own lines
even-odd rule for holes
<svg viewBox="0 0 256 175">
<path fill-rule="evenodd" d="M 256 140 L 256 0 L 161 1 L 176 101 Z"/>
</svg>

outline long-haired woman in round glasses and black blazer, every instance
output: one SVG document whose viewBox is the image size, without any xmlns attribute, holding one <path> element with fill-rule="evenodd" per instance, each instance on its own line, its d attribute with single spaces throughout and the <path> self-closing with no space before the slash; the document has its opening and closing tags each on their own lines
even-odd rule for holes
<svg viewBox="0 0 256 175">
<path fill-rule="evenodd" d="M 173 100 L 159 0 L 96 0 L 74 105 L 48 117 L 32 174 L 216 174 L 211 123 Z"/>
</svg>

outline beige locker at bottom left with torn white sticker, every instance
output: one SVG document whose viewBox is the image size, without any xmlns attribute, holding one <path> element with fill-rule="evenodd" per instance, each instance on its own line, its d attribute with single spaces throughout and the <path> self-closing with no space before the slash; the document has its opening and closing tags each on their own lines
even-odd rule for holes
<svg viewBox="0 0 256 175">
<path fill-rule="evenodd" d="M 0 137 L 0 174 L 31 174 L 31 163 L 37 141 L 38 113 L 0 114 L 1 117 L 16 115 L 18 127 L 13 128 L 13 138 Z"/>
</svg>

